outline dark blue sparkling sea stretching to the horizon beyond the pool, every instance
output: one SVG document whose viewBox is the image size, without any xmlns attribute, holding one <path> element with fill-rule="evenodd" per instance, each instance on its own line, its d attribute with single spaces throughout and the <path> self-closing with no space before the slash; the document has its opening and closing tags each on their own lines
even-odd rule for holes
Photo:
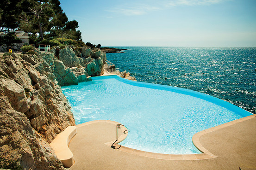
<svg viewBox="0 0 256 170">
<path fill-rule="evenodd" d="M 256 47 L 115 47 L 106 58 L 149 82 L 186 88 L 256 114 Z"/>
</svg>

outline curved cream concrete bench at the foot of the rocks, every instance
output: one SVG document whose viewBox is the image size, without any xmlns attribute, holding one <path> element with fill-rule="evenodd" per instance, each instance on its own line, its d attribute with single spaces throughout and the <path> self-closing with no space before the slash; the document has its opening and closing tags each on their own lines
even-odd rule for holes
<svg viewBox="0 0 256 170">
<path fill-rule="evenodd" d="M 76 127 L 69 126 L 64 131 L 59 133 L 50 143 L 50 146 L 55 151 L 57 158 L 62 161 L 65 168 L 69 168 L 74 164 L 73 153 L 69 150 L 69 142 L 75 135 Z"/>
</svg>

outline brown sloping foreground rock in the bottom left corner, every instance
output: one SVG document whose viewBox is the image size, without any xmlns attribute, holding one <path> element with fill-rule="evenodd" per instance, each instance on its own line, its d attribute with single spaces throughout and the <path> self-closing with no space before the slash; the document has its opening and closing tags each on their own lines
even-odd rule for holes
<svg viewBox="0 0 256 170">
<path fill-rule="evenodd" d="M 6 96 L 0 97 L 0 122 L 2 161 L 17 161 L 26 170 L 64 170 L 49 144 L 41 139 L 23 113 L 12 108 Z"/>
</svg>

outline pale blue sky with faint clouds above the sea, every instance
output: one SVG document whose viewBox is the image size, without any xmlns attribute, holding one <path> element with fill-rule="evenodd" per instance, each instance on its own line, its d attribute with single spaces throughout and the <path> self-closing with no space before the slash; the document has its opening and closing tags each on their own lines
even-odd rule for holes
<svg viewBox="0 0 256 170">
<path fill-rule="evenodd" d="M 256 0 L 60 0 L 84 42 L 256 47 Z"/>
</svg>

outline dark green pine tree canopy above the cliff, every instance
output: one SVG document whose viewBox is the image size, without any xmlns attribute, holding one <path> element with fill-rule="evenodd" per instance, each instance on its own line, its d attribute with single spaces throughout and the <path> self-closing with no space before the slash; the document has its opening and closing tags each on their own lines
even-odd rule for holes
<svg viewBox="0 0 256 170">
<path fill-rule="evenodd" d="M 81 40 L 78 22 L 69 21 L 59 0 L 2 0 L 0 30 L 23 30 L 43 40 L 62 37 Z"/>
</svg>

